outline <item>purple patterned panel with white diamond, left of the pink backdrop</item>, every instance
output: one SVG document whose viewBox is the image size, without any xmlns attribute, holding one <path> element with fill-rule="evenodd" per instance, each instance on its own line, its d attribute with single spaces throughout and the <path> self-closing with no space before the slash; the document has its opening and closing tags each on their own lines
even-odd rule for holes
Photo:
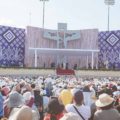
<svg viewBox="0 0 120 120">
<path fill-rule="evenodd" d="M 25 30 L 0 26 L 0 66 L 23 66 Z"/>
</svg>

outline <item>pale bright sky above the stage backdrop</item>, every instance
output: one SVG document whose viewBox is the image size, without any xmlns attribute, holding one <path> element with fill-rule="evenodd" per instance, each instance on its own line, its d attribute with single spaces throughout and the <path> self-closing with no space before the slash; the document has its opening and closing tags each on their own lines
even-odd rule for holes
<svg viewBox="0 0 120 120">
<path fill-rule="evenodd" d="M 46 29 L 67 23 L 69 30 L 107 30 L 108 7 L 104 0 L 49 0 L 45 3 Z M 0 0 L 0 25 L 42 28 L 43 2 L 40 0 Z M 120 0 L 110 6 L 110 30 L 120 30 Z"/>
</svg>

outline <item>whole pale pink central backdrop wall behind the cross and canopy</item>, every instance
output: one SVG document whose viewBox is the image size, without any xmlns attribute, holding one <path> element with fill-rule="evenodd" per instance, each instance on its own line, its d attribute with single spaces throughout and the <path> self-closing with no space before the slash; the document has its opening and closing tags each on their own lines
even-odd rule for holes
<svg viewBox="0 0 120 120">
<path fill-rule="evenodd" d="M 66 31 L 65 36 L 63 32 L 58 31 L 59 38 L 66 37 L 67 49 L 98 49 L 98 29 L 88 29 L 88 30 L 77 30 L 74 31 L 73 36 L 72 30 Z M 43 34 L 44 33 L 44 34 Z M 25 65 L 26 67 L 34 67 L 35 65 L 35 54 L 34 51 L 30 50 L 33 48 L 57 48 L 57 30 L 49 30 L 37 28 L 37 27 L 27 27 L 26 42 L 25 42 Z M 71 36 L 71 37 L 70 37 Z M 64 42 L 60 40 L 59 48 L 65 48 Z M 91 63 L 91 55 L 89 56 L 56 56 L 56 55 L 46 55 L 37 53 L 37 66 L 50 68 L 51 63 L 64 62 L 64 57 L 66 57 L 69 68 L 73 68 L 75 64 L 79 68 L 86 68 L 88 63 Z M 88 57 L 88 60 L 87 60 Z M 97 66 L 98 54 L 94 55 L 94 66 Z"/>
</svg>

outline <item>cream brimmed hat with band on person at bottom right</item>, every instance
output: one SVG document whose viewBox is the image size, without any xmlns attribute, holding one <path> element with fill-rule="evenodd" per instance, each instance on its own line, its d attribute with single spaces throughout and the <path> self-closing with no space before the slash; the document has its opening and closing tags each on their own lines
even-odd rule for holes
<svg viewBox="0 0 120 120">
<path fill-rule="evenodd" d="M 97 107 L 105 107 L 110 105 L 114 99 L 110 97 L 108 94 L 103 93 L 99 96 L 99 99 L 96 101 L 96 106 Z"/>
</svg>

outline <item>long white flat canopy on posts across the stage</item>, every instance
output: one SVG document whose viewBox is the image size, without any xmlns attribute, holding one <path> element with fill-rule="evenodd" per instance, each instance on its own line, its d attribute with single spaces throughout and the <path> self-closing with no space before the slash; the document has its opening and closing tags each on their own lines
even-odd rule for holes
<svg viewBox="0 0 120 120">
<path fill-rule="evenodd" d="M 49 55 L 69 55 L 69 56 L 91 56 L 92 69 L 94 65 L 94 53 L 98 53 L 98 49 L 60 49 L 60 48 L 29 48 L 35 52 L 35 67 L 37 67 L 37 53 Z"/>
</svg>

